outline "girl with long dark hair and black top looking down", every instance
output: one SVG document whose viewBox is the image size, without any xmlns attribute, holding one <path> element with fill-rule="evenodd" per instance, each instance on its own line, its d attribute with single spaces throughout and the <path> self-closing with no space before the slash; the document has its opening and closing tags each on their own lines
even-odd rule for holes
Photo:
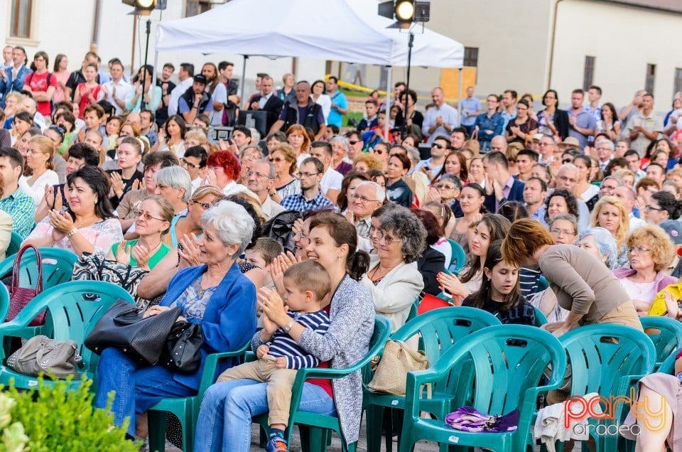
<svg viewBox="0 0 682 452">
<path fill-rule="evenodd" d="M 462 306 L 488 311 L 503 325 L 535 325 L 535 309 L 519 294 L 519 267 L 502 259 L 501 247 L 501 240 L 490 244 L 481 288 L 467 296 Z"/>
</svg>

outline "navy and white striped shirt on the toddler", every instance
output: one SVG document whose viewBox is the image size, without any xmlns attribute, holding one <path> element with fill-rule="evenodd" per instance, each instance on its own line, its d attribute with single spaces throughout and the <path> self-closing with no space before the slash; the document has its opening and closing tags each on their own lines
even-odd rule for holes
<svg viewBox="0 0 682 452">
<path fill-rule="evenodd" d="M 315 333 L 324 334 L 329 328 L 329 314 L 324 310 L 316 312 L 296 312 L 288 313 L 295 321 L 301 323 L 304 327 L 310 328 Z M 317 367 L 320 360 L 305 353 L 301 347 L 298 346 L 296 340 L 284 332 L 283 328 L 278 328 L 272 339 L 267 345 L 270 348 L 268 355 L 271 357 L 286 357 L 287 369 L 301 369 L 303 367 Z"/>
</svg>

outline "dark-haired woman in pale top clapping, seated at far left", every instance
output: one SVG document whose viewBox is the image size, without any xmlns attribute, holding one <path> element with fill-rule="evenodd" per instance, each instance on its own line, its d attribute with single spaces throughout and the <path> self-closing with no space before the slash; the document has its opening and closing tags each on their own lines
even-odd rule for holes
<svg viewBox="0 0 682 452">
<path fill-rule="evenodd" d="M 67 176 L 67 185 L 68 207 L 62 209 L 58 196 L 55 208 L 24 244 L 68 249 L 78 256 L 84 252 L 106 256 L 112 244 L 123 240 L 121 222 L 109 203 L 109 178 L 99 168 L 83 166 Z"/>
</svg>

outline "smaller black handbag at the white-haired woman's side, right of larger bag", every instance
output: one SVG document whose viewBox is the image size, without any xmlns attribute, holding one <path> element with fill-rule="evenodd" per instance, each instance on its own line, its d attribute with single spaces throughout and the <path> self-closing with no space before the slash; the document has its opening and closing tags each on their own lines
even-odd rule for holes
<svg viewBox="0 0 682 452">
<path fill-rule="evenodd" d="M 175 322 L 166 340 L 166 350 L 160 364 L 173 372 L 193 374 L 201 365 L 203 343 L 201 325 L 188 321 Z"/>
</svg>

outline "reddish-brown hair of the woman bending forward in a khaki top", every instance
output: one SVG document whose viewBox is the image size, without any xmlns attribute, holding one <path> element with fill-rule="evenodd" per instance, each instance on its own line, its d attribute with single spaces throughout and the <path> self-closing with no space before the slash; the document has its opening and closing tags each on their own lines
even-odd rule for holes
<svg viewBox="0 0 682 452">
<path fill-rule="evenodd" d="M 505 262 L 521 267 L 526 258 L 544 245 L 552 245 L 554 240 L 546 227 L 538 220 L 521 218 L 511 223 L 507 237 L 502 242 L 502 259 Z"/>
</svg>

